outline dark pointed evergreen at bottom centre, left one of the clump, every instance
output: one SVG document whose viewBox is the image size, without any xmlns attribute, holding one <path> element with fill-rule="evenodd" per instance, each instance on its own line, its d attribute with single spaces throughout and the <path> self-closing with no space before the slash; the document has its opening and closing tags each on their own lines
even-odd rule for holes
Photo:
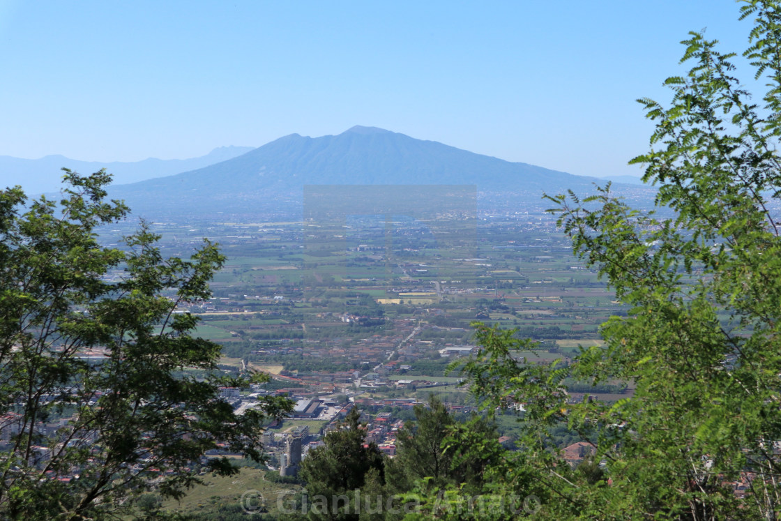
<svg viewBox="0 0 781 521">
<path fill-rule="evenodd" d="M 366 424 L 360 419 L 361 413 L 352 408 L 339 428 L 326 434 L 324 445 L 301 462 L 310 519 L 359 519 L 366 508 L 355 492 L 369 475 L 372 490 L 384 484 L 385 456 L 375 443 L 366 444 Z"/>
</svg>

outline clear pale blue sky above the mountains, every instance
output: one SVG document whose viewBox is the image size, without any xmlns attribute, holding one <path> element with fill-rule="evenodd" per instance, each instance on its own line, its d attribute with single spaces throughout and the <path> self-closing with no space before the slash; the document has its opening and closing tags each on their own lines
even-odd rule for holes
<svg viewBox="0 0 781 521">
<path fill-rule="evenodd" d="M 679 45 L 742 52 L 731 0 L 0 0 L 0 155 L 184 159 L 383 127 L 582 175 L 639 175 Z M 751 73 L 744 74 L 750 77 Z"/>
</svg>

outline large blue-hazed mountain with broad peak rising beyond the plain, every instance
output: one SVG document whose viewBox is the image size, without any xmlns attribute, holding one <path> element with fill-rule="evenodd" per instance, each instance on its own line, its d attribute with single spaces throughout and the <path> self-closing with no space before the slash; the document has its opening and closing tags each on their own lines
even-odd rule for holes
<svg viewBox="0 0 781 521">
<path fill-rule="evenodd" d="M 291 134 L 234 159 L 112 189 L 145 216 L 269 214 L 300 207 L 305 185 L 476 185 L 540 202 L 544 191 L 593 191 L 593 177 L 508 162 L 375 127 Z M 604 184 L 602 182 L 601 184 Z M 544 206 L 544 203 L 540 203 Z"/>
</svg>

